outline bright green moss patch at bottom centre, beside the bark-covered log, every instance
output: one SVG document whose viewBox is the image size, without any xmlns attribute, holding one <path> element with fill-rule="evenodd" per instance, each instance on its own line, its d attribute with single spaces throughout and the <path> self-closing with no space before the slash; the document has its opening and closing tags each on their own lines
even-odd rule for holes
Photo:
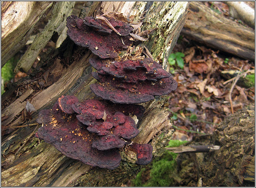
<svg viewBox="0 0 256 188">
<path fill-rule="evenodd" d="M 169 146 L 167 147 L 178 147 L 182 144 L 187 143 L 187 141 L 180 140 L 170 140 Z M 167 187 L 171 186 L 173 183 L 173 178 L 171 177 L 171 171 L 173 171 L 176 166 L 176 158 L 178 154 L 165 151 L 164 154 L 152 161 L 152 163 L 147 166 L 150 169 L 150 179 L 145 182 L 143 179 L 147 176 L 147 168 L 143 168 L 136 178 L 132 180 L 132 186 L 135 187 Z M 143 183 L 145 182 L 145 183 Z"/>
</svg>

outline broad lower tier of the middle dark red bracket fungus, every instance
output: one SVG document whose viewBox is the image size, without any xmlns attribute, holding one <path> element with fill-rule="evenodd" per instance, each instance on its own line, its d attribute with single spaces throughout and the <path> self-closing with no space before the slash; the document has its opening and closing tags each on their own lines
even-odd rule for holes
<svg viewBox="0 0 256 188">
<path fill-rule="evenodd" d="M 176 90 L 177 82 L 172 78 L 161 79 L 157 82 L 144 81 L 138 83 L 122 83 L 121 79 L 100 75 L 92 72 L 93 77 L 100 84 L 91 84 L 94 94 L 114 103 L 135 104 L 147 102 L 154 96 L 169 94 Z"/>
</svg>

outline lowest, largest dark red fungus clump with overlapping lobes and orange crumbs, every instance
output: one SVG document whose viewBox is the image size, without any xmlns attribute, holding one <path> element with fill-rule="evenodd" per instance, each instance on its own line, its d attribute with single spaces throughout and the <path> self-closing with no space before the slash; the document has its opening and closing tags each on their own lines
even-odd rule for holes
<svg viewBox="0 0 256 188">
<path fill-rule="evenodd" d="M 42 127 L 35 136 L 68 157 L 114 169 L 121 161 L 118 148 L 130 144 L 130 139 L 139 133 L 134 120 L 127 115 L 142 117 L 144 110 L 135 104 L 108 104 L 95 99 L 79 103 L 75 96 L 61 96 L 52 109 L 39 112 L 36 121 Z M 85 123 L 81 123 L 80 115 L 85 117 Z"/>
</svg>

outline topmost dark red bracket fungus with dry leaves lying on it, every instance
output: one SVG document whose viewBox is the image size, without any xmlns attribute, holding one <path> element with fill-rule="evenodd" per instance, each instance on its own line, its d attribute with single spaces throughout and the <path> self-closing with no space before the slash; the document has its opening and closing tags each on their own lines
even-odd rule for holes
<svg viewBox="0 0 256 188">
<path fill-rule="evenodd" d="M 122 21 L 106 19 L 116 30 L 119 30 L 120 34 L 126 35 L 132 31 L 132 27 Z M 89 48 L 93 54 L 103 59 L 117 57 L 120 51 L 127 49 L 132 43 L 129 35 L 120 36 L 116 32 L 110 32 L 109 27 L 102 20 L 93 17 L 82 20 L 71 15 L 67 18 L 67 27 L 69 28 L 67 35 L 75 44 Z"/>
</svg>

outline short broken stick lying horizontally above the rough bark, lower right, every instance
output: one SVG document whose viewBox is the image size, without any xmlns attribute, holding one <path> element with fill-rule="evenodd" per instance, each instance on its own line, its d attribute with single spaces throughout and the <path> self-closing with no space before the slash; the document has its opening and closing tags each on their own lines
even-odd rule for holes
<svg viewBox="0 0 256 188">
<path fill-rule="evenodd" d="M 174 153 L 202 153 L 202 152 L 213 152 L 220 149 L 220 146 L 179 146 L 179 147 L 170 147 L 165 148 Z"/>
</svg>

